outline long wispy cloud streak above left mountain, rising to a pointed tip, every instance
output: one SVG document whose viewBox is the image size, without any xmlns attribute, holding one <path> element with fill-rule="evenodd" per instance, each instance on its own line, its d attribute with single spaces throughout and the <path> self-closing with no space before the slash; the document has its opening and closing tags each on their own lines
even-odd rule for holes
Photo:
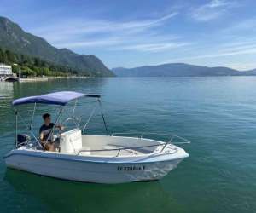
<svg viewBox="0 0 256 213">
<path fill-rule="evenodd" d="M 63 41 L 63 39 L 72 39 L 72 37 L 85 37 L 100 33 L 137 33 L 144 32 L 150 28 L 161 26 L 167 20 L 176 16 L 177 13 L 167 14 L 158 19 L 150 20 L 131 20 L 123 22 L 113 22 L 109 20 L 82 20 L 70 19 L 61 20 L 31 31 L 49 40 L 50 43 Z"/>
</svg>

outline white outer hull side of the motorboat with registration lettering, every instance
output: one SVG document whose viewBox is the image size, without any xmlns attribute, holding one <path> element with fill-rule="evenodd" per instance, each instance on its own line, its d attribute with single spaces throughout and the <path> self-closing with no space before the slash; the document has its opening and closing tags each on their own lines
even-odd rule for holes
<svg viewBox="0 0 256 213">
<path fill-rule="evenodd" d="M 92 162 L 73 156 L 40 156 L 10 153 L 5 157 L 9 168 L 25 170 L 42 176 L 71 181 L 124 183 L 159 180 L 173 170 L 183 158 L 159 162 Z"/>
</svg>

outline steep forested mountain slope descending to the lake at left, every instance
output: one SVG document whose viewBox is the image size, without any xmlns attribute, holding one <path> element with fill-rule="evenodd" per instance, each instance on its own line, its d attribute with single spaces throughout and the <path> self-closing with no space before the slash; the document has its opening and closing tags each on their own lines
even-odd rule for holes
<svg viewBox="0 0 256 213">
<path fill-rule="evenodd" d="M 24 32 L 11 20 L 0 16 L 0 48 L 9 49 L 17 54 L 38 57 L 56 65 L 69 66 L 79 74 L 97 77 L 113 76 L 95 55 L 78 55 L 69 49 L 57 49 L 44 38 Z"/>
</svg>

